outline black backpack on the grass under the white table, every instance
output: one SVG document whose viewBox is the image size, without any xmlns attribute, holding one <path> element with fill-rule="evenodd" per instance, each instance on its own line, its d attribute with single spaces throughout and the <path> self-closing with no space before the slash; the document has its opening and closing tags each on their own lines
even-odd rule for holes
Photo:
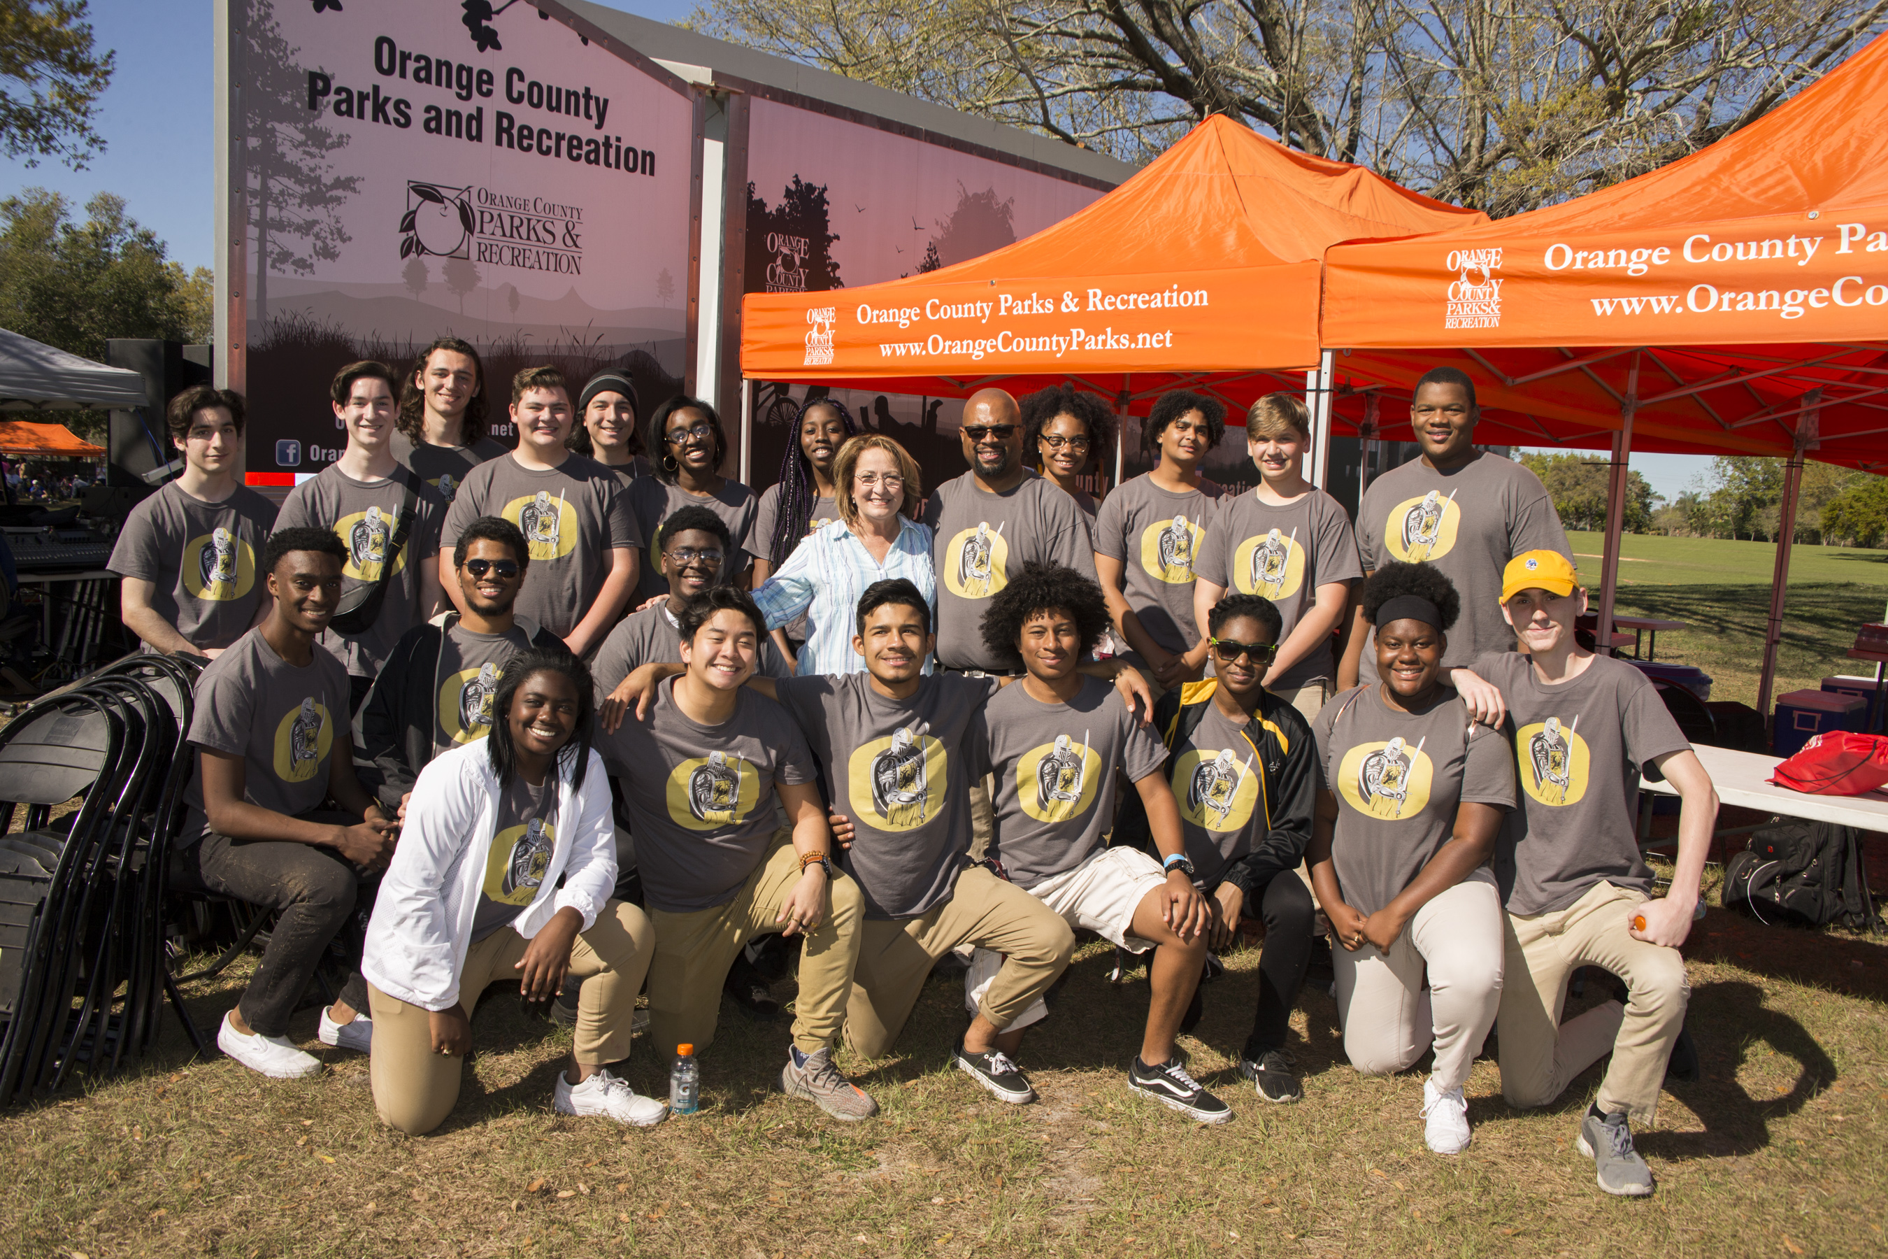
<svg viewBox="0 0 1888 1259">
<path fill-rule="evenodd" d="M 1724 866 L 1724 906 L 1762 923 L 1882 931 L 1854 827 L 1778 823 Z"/>
</svg>

